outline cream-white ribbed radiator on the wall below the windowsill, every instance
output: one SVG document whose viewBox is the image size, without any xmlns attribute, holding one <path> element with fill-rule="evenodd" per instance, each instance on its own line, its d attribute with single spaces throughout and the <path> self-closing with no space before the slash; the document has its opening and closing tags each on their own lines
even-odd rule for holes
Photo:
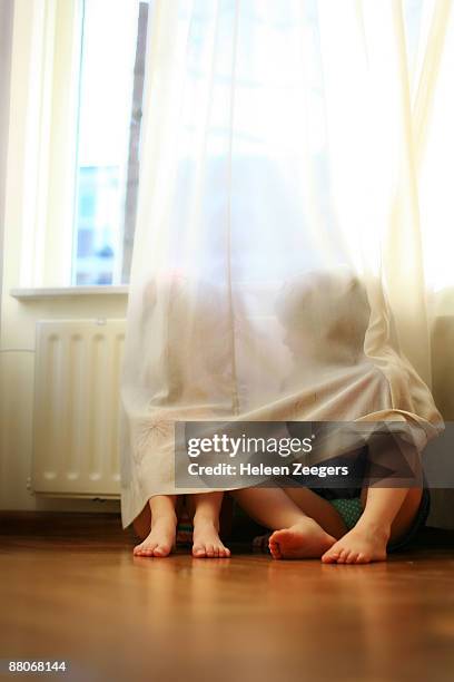
<svg viewBox="0 0 454 682">
<path fill-rule="evenodd" d="M 36 493 L 118 497 L 125 320 L 37 322 Z"/>
</svg>

